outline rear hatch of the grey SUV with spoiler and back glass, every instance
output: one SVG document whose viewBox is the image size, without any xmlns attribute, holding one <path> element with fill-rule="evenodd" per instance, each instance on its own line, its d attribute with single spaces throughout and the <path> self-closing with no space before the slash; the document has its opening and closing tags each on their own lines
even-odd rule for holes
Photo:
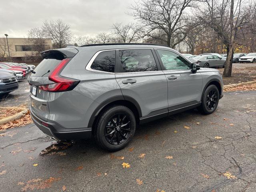
<svg viewBox="0 0 256 192">
<path fill-rule="evenodd" d="M 31 112 L 38 116 L 42 120 L 47 121 L 49 115 L 48 100 L 52 93 L 51 86 L 58 84 L 54 79 L 51 79 L 51 75 L 56 69 L 62 66 L 64 68 L 78 52 L 78 50 L 71 48 L 69 50 L 48 50 L 42 52 L 44 60 L 34 69 L 31 75 L 28 77 L 30 87 L 30 99 L 31 99 Z M 62 70 L 59 69 L 59 70 Z M 58 71 L 58 74 L 61 71 Z M 57 75 L 58 75 L 57 74 Z M 54 91 L 54 90 L 53 90 Z M 60 91 L 57 91 L 60 92 Z"/>
</svg>

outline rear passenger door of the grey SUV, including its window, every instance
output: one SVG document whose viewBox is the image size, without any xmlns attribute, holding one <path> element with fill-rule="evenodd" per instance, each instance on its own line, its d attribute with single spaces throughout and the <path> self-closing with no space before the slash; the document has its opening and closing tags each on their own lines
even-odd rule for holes
<svg viewBox="0 0 256 192">
<path fill-rule="evenodd" d="M 167 80 L 155 57 L 152 49 L 117 50 L 116 81 L 124 98 L 138 102 L 143 118 L 168 115 Z"/>
</svg>

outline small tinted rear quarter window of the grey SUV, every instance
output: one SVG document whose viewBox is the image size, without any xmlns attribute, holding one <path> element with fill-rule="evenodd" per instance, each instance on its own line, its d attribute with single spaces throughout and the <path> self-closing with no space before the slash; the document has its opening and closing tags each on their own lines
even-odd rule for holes
<svg viewBox="0 0 256 192">
<path fill-rule="evenodd" d="M 98 54 L 91 65 L 91 69 L 98 71 L 114 72 L 116 61 L 115 51 L 104 51 Z"/>
</svg>

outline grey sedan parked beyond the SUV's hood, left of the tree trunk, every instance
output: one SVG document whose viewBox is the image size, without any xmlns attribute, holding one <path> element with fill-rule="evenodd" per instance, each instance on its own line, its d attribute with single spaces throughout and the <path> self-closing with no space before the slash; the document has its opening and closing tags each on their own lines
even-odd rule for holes
<svg viewBox="0 0 256 192">
<path fill-rule="evenodd" d="M 204 68 L 224 67 L 226 60 L 216 55 L 202 55 L 196 63 Z"/>
</svg>

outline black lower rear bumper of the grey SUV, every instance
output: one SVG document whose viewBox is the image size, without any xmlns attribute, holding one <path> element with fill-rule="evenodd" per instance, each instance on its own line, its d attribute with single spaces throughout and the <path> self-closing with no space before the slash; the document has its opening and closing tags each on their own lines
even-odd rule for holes
<svg viewBox="0 0 256 192">
<path fill-rule="evenodd" d="M 36 126 L 47 136 L 54 140 L 79 140 L 88 139 L 92 135 L 92 128 L 79 128 L 75 130 L 62 128 L 60 125 L 52 122 L 46 122 L 36 116 L 30 109 L 31 118 Z M 43 125 L 48 124 L 48 126 Z"/>
</svg>

